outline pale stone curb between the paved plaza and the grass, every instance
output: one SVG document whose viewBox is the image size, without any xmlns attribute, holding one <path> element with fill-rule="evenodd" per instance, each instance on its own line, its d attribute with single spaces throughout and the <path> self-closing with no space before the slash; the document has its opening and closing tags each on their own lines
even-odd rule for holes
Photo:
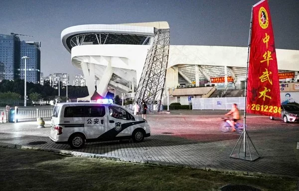
<svg viewBox="0 0 299 191">
<path fill-rule="evenodd" d="M 269 177 L 269 178 L 270 177 L 287 177 L 287 178 L 299 179 L 299 177 L 294 177 L 294 176 L 275 175 L 275 174 L 249 172 L 249 171 L 235 171 L 235 170 L 227 170 L 227 169 L 220 169 L 220 168 L 211 168 L 211 167 L 206 167 L 206 166 L 194 166 L 194 165 L 170 163 L 170 162 L 164 162 L 164 161 L 153 161 L 153 160 L 143 160 L 143 159 L 137 160 L 137 159 L 124 158 L 124 157 L 113 157 L 113 156 L 107 156 L 107 155 L 101 155 L 101 154 L 83 153 L 83 152 L 60 150 L 60 149 L 47 149 L 47 148 L 42 148 L 42 147 L 17 145 L 17 144 L 11 144 L 11 143 L 3 143 L 3 142 L 0 142 L 0 147 L 13 148 L 13 149 L 31 149 L 31 150 L 38 150 L 38 151 L 53 152 L 53 153 L 58 153 L 58 154 L 72 155 L 74 157 L 107 159 L 107 160 L 113 160 L 113 161 L 147 164 L 147 165 L 161 166 L 161 167 L 200 169 L 200 170 L 204 170 L 204 171 L 220 172 L 220 173 L 224 173 L 224 174 L 228 174 L 228 175 L 239 175 L 239 176 L 250 176 L 250 177 Z"/>
</svg>

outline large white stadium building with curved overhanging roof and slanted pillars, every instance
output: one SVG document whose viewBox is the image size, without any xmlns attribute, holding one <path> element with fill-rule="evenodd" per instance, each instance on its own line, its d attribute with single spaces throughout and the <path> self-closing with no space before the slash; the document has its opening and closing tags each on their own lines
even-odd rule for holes
<svg viewBox="0 0 299 191">
<path fill-rule="evenodd" d="M 132 96 L 138 92 L 145 63 L 157 58 L 153 54 L 160 47 L 167 47 L 156 46 L 161 29 L 169 31 L 168 23 L 88 24 L 64 29 L 62 44 L 71 53 L 73 66 L 83 71 L 89 92 L 78 100 L 90 100 L 95 91 L 104 97 L 108 91 Z M 153 50 L 154 45 L 158 48 Z M 227 90 L 244 96 L 248 47 L 168 44 L 165 50 L 164 104 L 166 93 L 170 102 L 181 104 L 188 104 L 190 96 L 221 96 Z M 276 52 L 280 82 L 291 87 L 299 82 L 299 50 Z"/>
</svg>

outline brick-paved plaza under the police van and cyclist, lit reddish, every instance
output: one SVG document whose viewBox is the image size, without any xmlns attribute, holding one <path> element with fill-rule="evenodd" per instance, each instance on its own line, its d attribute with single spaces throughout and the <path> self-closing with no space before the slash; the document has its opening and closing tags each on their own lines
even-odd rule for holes
<svg viewBox="0 0 299 191">
<path fill-rule="evenodd" d="M 0 123 L 0 145 L 245 175 L 299 177 L 299 123 L 285 124 L 281 120 L 270 120 L 267 116 L 247 115 L 247 133 L 260 155 L 255 161 L 247 161 L 229 157 L 240 134 L 220 130 L 221 117 L 226 112 L 196 110 L 151 113 L 147 116 L 151 136 L 145 138 L 144 142 L 87 143 L 80 150 L 52 142 L 49 139 L 49 120 L 45 121 L 45 128 L 37 128 L 36 121 Z M 237 144 L 235 151 L 240 146 L 243 154 L 243 143 Z M 252 154 L 256 153 L 252 145 L 250 150 Z M 248 156 L 248 149 L 246 151 Z"/>
</svg>

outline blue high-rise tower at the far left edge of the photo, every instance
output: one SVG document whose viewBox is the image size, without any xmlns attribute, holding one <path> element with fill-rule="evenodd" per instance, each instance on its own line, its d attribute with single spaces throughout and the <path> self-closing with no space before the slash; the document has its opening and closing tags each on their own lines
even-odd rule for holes
<svg viewBox="0 0 299 191">
<path fill-rule="evenodd" d="M 20 39 L 15 35 L 0 34 L 0 64 L 4 65 L 4 79 L 19 78 L 20 66 Z M 0 79 L 0 80 L 4 80 Z"/>
</svg>

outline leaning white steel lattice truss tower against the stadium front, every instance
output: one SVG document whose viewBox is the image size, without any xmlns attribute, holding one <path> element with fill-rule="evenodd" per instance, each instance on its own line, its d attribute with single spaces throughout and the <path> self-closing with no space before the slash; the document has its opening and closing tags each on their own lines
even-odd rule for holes
<svg viewBox="0 0 299 191">
<path fill-rule="evenodd" d="M 148 104 L 161 105 L 169 54 L 169 29 L 158 29 L 149 49 L 146 63 L 134 97 Z"/>
</svg>

